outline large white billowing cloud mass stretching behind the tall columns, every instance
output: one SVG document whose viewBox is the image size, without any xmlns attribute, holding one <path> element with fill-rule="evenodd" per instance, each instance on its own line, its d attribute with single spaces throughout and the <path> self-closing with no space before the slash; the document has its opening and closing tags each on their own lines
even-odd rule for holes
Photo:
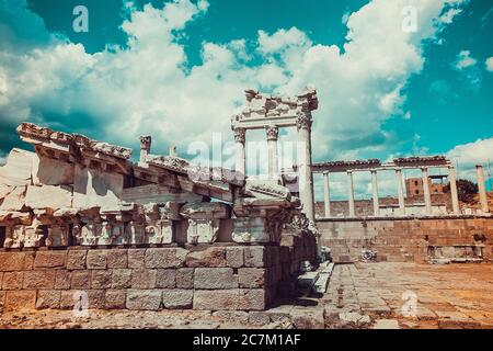
<svg viewBox="0 0 493 351">
<path fill-rule="evenodd" d="M 152 134 L 156 152 L 177 145 L 183 154 L 192 141 L 210 143 L 214 132 L 231 139 L 229 116 L 243 103 L 244 89 L 297 94 L 314 86 L 313 156 L 322 160 L 392 151 L 398 138 L 382 124 L 411 115 L 402 111 L 403 91 L 423 68 L 421 44 L 460 13 L 462 1 L 374 0 L 345 16 L 343 47 L 316 45 L 296 27 L 260 29 L 253 49 L 243 38 L 203 43 L 195 66 L 177 38 L 188 22 L 206 15 L 204 0 L 141 10 L 129 3 L 122 24 L 127 46 L 95 54 L 49 33 L 25 1 L 2 3 L 0 12 L 34 23 L 36 35 L 15 21 L 0 26 L 1 126 L 33 121 L 134 147 L 139 134 Z M 408 5 L 419 10 L 415 32 L 402 30 Z M 254 64 L 253 55 L 260 57 Z M 283 137 L 293 139 L 293 131 Z"/>
</svg>

